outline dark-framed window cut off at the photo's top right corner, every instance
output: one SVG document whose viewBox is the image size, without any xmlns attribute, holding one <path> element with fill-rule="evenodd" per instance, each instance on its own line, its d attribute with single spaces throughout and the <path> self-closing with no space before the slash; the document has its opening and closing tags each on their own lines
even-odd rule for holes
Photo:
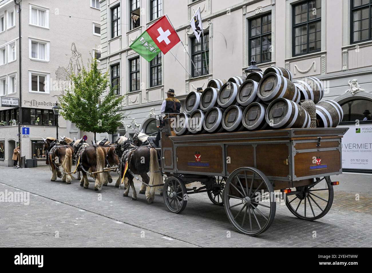
<svg viewBox="0 0 372 273">
<path fill-rule="evenodd" d="M 372 39 L 372 0 L 351 0 L 351 43 Z"/>
</svg>

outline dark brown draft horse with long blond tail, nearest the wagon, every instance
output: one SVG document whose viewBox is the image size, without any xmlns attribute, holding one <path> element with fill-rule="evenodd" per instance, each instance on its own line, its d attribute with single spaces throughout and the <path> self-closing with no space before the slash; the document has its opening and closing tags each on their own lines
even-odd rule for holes
<svg viewBox="0 0 372 273">
<path fill-rule="evenodd" d="M 123 196 L 128 196 L 129 188 L 132 187 L 132 200 L 137 199 L 137 192 L 134 188 L 133 178 L 134 175 L 141 175 L 142 186 L 147 185 L 158 185 L 163 183 L 163 178 L 159 171 L 159 162 L 157 159 L 156 150 L 150 146 L 137 147 L 133 144 L 133 140 L 127 139 L 124 136 L 119 137 L 116 140 L 116 154 L 119 156 L 120 165 L 120 176 L 119 180 L 116 181 L 115 186 L 119 186 L 121 180 L 128 178 L 128 187 L 126 188 Z M 125 171 L 125 165 L 128 168 Z M 147 175 L 150 173 L 150 177 Z M 145 195 L 148 203 L 152 203 L 155 198 L 155 187 L 146 187 Z"/>
</svg>

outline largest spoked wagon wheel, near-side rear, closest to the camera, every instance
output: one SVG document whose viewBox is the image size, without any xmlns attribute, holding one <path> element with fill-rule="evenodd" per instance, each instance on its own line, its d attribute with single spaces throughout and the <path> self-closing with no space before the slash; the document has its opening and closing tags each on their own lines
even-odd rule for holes
<svg viewBox="0 0 372 273">
<path fill-rule="evenodd" d="M 231 224 L 247 235 L 263 233 L 275 217 L 273 186 L 255 168 L 238 168 L 231 173 L 224 189 L 224 203 Z"/>
</svg>

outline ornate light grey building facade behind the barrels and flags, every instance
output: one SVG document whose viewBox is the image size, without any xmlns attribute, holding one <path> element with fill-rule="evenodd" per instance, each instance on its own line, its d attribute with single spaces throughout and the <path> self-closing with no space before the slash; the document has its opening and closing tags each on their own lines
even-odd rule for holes
<svg viewBox="0 0 372 273">
<path fill-rule="evenodd" d="M 156 130 L 154 115 L 160 114 L 169 88 L 183 101 L 211 79 L 246 76 L 244 69 L 254 57 L 263 71 L 279 66 L 295 79 L 321 79 L 323 100 L 342 104 L 343 123 L 352 127 L 359 120 L 365 136 L 371 136 L 371 0 L 100 0 L 100 5 L 101 70 L 110 71 L 117 94 L 126 95 L 128 119 L 120 134 Z M 204 44 L 189 25 L 198 7 Z M 191 77 L 170 53 L 147 62 L 129 48 L 163 14 L 185 44 L 171 51 Z M 371 164 L 365 168 L 372 169 Z"/>
</svg>

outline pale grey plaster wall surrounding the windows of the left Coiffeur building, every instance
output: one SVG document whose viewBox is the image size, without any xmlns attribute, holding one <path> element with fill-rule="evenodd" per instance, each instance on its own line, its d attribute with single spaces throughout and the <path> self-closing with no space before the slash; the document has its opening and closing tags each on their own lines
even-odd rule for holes
<svg viewBox="0 0 372 273">
<path fill-rule="evenodd" d="M 70 61 L 75 62 L 71 51 L 73 43 L 76 50 L 81 54 L 78 57 L 80 66 L 86 66 L 94 49 L 100 51 L 100 36 L 93 35 L 93 23 L 100 24 L 100 10 L 91 7 L 91 0 L 22 0 L 21 31 L 22 31 L 22 107 L 36 109 L 52 109 L 57 97 L 64 90 L 58 77 L 63 69 L 69 68 Z M 33 26 L 30 24 L 30 12 L 32 5 L 46 10 L 49 23 L 46 27 Z M 14 1 L 0 2 L 0 16 L 4 10 L 15 9 L 15 26 L 0 33 L 0 44 L 7 44 L 18 39 L 19 23 L 17 13 L 18 6 Z M 30 58 L 30 39 L 47 43 L 49 52 L 48 61 L 37 61 Z M 5 41 L 4 41 L 5 40 Z M 0 46 L 1 48 L 1 46 Z M 17 60 L 0 66 L 0 78 L 3 75 L 17 73 L 17 92 L 6 97 L 19 98 L 19 41 L 16 40 Z M 48 92 L 32 92 L 30 87 L 30 72 L 47 75 Z M 0 107 L 1 110 L 9 109 Z M 31 158 L 31 140 L 42 140 L 42 137 L 56 135 L 55 126 L 27 125 L 30 127 L 30 137 L 22 138 L 21 153 L 26 159 Z M 93 134 L 81 132 L 74 124 L 59 118 L 58 132 L 61 136 L 82 137 L 88 136 L 93 139 Z M 18 126 L 0 126 L 0 141 L 5 142 L 5 160 L 0 160 L 0 165 L 12 165 L 9 147 L 13 147 L 13 141 L 18 141 Z M 8 162 L 9 160 L 9 162 Z"/>
</svg>

